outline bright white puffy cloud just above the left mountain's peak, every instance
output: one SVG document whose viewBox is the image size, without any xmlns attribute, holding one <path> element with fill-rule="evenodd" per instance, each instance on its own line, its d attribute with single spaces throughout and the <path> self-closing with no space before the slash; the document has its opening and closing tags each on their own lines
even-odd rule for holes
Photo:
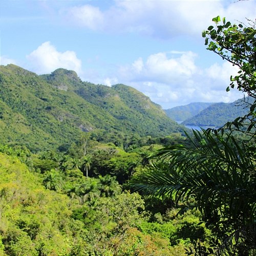
<svg viewBox="0 0 256 256">
<path fill-rule="evenodd" d="M 26 57 L 30 61 L 30 70 L 37 74 L 51 73 L 58 68 L 81 73 L 81 60 L 77 58 L 76 53 L 74 51 L 58 52 L 49 41 L 41 44 Z"/>
</svg>

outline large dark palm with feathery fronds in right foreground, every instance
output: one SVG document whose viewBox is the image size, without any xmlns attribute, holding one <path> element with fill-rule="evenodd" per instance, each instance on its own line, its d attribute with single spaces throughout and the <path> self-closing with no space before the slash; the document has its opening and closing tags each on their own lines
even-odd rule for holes
<svg viewBox="0 0 256 256">
<path fill-rule="evenodd" d="M 195 198 L 204 221 L 222 241 L 219 252 L 249 255 L 256 234 L 255 145 L 210 131 L 194 131 L 194 136 L 188 137 L 192 148 L 174 145 L 159 150 L 152 156 L 159 161 L 130 184 L 146 195 L 176 202 Z"/>
</svg>

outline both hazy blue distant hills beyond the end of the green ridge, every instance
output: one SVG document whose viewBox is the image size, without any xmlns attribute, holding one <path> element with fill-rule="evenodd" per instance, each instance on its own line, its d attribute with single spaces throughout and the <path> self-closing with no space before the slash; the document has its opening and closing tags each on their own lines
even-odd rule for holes
<svg viewBox="0 0 256 256">
<path fill-rule="evenodd" d="M 221 127 L 228 121 L 248 113 L 251 98 L 238 99 L 231 103 L 190 103 L 165 110 L 168 117 L 188 126 Z"/>
</svg>

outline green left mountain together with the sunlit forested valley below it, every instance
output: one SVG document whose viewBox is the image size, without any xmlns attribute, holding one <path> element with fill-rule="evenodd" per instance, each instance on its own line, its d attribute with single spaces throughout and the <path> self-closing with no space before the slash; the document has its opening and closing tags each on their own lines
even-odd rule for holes
<svg viewBox="0 0 256 256">
<path fill-rule="evenodd" d="M 130 191 L 150 154 L 187 144 L 159 105 L 65 69 L 1 66 L 0 79 L 0 255 L 185 256 L 208 246 L 198 210 Z"/>
</svg>

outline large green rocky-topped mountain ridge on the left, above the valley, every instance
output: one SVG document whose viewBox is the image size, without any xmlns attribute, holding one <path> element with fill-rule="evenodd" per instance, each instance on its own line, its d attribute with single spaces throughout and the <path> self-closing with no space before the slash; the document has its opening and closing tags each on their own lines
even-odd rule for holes
<svg viewBox="0 0 256 256">
<path fill-rule="evenodd" d="M 15 65 L 0 68 L 1 143 L 37 151 L 71 144 L 83 132 L 122 142 L 183 130 L 150 98 L 123 84 L 83 82 L 65 69 L 38 76 Z"/>
</svg>

